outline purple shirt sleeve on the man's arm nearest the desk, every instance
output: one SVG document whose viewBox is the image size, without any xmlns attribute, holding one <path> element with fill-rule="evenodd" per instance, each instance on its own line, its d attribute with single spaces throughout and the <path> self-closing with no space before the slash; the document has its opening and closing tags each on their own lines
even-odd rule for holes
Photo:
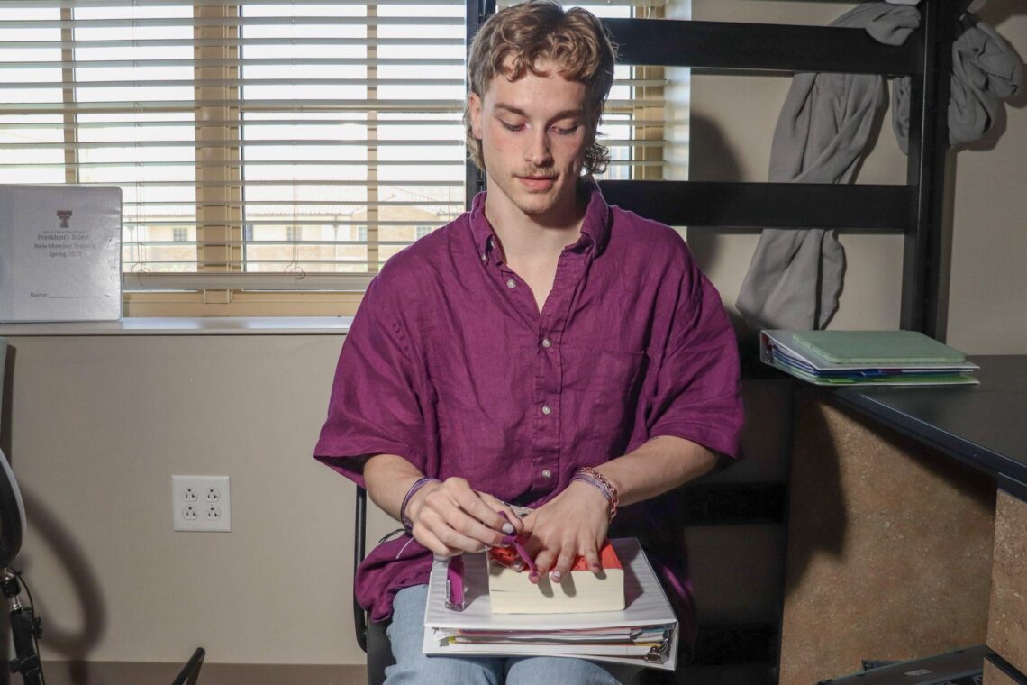
<svg viewBox="0 0 1027 685">
<path fill-rule="evenodd" d="M 683 437 L 738 456 L 744 421 L 738 345 L 720 294 L 697 268 L 685 279 L 648 413 L 650 437 Z"/>
</svg>

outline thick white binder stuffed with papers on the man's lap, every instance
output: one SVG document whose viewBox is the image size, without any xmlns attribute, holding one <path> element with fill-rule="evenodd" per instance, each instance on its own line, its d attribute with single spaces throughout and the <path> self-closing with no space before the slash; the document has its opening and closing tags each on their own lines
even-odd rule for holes
<svg viewBox="0 0 1027 685">
<path fill-rule="evenodd" d="M 638 540 L 611 541 L 624 570 L 622 611 L 494 614 L 485 555 L 463 555 L 461 611 L 446 608 L 447 560 L 436 559 L 424 615 L 425 654 L 576 656 L 673 670 L 678 620 Z"/>
</svg>

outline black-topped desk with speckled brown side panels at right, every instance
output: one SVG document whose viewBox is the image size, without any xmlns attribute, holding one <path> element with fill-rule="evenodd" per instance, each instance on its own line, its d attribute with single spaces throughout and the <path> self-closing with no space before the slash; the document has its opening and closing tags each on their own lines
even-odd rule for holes
<svg viewBox="0 0 1027 685">
<path fill-rule="evenodd" d="M 1020 672 L 986 683 L 1027 673 L 1027 356 L 974 360 L 978 386 L 800 391 L 783 684 L 982 642 Z"/>
</svg>

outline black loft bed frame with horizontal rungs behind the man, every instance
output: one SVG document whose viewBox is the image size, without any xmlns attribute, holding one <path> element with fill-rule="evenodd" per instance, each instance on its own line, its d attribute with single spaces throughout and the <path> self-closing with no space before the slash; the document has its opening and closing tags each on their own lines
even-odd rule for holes
<svg viewBox="0 0 1027 685">
<path fill-rule="evenodd" d="M 906 185 L 604 181 L 611 204 L 690 230 L 716 228 L 843 229 L 902 233 L 900 326 L 934 338 L 944 326 L 942 229 L 948 149 L 949 74 L 956 17 L 968 0 L 922 0 L 920 29 L 902 46 L 884 45 L 863 29 L 676 20 L 605 20 L 619 47 L 619 63 L 692 67 L 705 72 L 838 72 L 912 77 Z M 467 44 L 495 0 L 466 0 Z M 484 189 L 483 175 L 467 164 L 467 202 Z M 786 485 L 689 486 L 683 525 L 784 525 Z M 356 489 L 354 562 L 365 556 L 367 493 Z M 357 642 L 368 651 L 369 625 L 353 604 Z M 709 627 L 709 626 L 708 626 Z M 696 646 L 692 665 L 775 662 L 779 626 L 719 626 Z M 376 633 L 377 632 L 377 633 Z M 369 682 L 381 667 L 380 626 L 368 652 Z M 713 655 L 702 661 L 702 653 Z M 386 647 L 387 651 L 387 647 Z M 387 655 L 385 655 L 387 658 Z"/>
</svg>

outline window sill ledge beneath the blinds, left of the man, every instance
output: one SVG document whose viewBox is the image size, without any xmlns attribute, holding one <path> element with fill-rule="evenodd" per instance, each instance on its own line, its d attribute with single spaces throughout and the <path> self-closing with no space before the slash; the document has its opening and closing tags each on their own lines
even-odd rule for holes
<svg viewBox="0 0 1027 685">
<path fill-rule="evenodd" d="M 352 316 L 127 317 L 116 321 L 0 324 L 5 338 L 39 336 L 344 335 Z"/>
</svg>

